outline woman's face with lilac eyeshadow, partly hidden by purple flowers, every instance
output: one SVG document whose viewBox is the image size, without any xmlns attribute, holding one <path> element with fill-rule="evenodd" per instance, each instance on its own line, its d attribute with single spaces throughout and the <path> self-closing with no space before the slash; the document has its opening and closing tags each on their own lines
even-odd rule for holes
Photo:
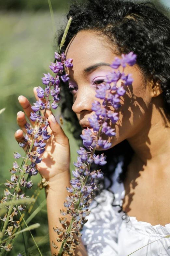
<svg viewBox="0 0 170 256">
<path fill-rule="evenodd" d="M 101 102 L 95 97 L 96 87 L 113 70 L 109 65 L 117 55 L 114 46 L 107 43 L 106 37 L 94 31 L 78 32 L 67 46 L 65 55 L 66 59 L 73 59 L 73 67 L 65 67 L 70 77 L 69 84 L 73 87 L 72 109 L 77 114 L 81 127 L 87 128 L 90 127 L 88 118 L 94 114 L 91 110 L 92 102 Z M 127 93 L 121 96 L 122 106 L 117 111 L 119 121 L 110 124 L 116 132 L 116 136 L 109 138 L 112 146 L 142 132 L 147 126 L 152 109 L 151 86 L 146 85 L 137 65 L 127 66 L 124 72 L 126 75 L 132 74 L 134 82 L 132 86 L 124 86 Z M 121 80 L 118 82 L 118 86 L 120 85 Z"/>
</svg>

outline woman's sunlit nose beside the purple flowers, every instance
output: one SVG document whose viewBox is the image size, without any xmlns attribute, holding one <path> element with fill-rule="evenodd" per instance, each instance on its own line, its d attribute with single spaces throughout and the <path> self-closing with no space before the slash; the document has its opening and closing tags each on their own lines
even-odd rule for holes
<svg viewBox="0 0 170 256">
<path fill-rule="evenodd" d="M 79 91 L 76 95 L 75 102 L 72 106 L 73 111 L 76 114 L 82 114 L 84 112 L 91 112 L 92 111 L 92 94 L 88 91 Z"/>
</svg>

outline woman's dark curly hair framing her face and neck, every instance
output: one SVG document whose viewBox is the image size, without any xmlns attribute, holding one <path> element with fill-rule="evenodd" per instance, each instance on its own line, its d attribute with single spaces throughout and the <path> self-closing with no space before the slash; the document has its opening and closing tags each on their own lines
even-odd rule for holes
<svg viewBox="0 0 170 256">
<path fill-rule="evenodd" d="M 105 34 L 119 54 L 133 51 L 137 55 L 136 64 L 145 79 L 152 78 L 161 83 L 164 111 L 167 115 L 170 113 L 170 20 L 165 6 L 141 1 L 88 0 L 83 4 L 71 5 L 67 19 L 70 17 L 72 22 L 62 51 L 65 51 L 71 39 L 81 30 Z M 61 42 L 63 32 L 64 30 L 58 36 L 58 43 Z M 81 127 L 72 111 L 72 95 L 65 86 L 62 94 L 62 113 L 71 123 L 74 137 L 79 138 Z M 127 140 L 105 151 L 107 164 L 102 167 L 102 171 L 104 177 L 110 180 L 107 189 L 112 185 L 111 175 L 120 156 L 123 157 L 123 166 L 119 182 L 126 177 L 133 153 Z M 105 187 L 104 180 L 100 181 L 100 185 L 102 190 Z"/>
</svg>

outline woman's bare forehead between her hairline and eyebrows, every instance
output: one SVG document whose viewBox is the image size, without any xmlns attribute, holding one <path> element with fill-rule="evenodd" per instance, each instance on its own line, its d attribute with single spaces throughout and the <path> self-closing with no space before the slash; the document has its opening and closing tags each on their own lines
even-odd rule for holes
<svg viewBox="0 0 170 256">
<path fill-rule="evenodd" d="M 114 48 L 114 46 L 113 46 Z M 116 56 L 105 36 L 95 31 L 80 31 L 65 51 L 66 59 L 73 59 L 73 69 L 85 69 L 99 62 L 112 63 Z"/>
</svg>

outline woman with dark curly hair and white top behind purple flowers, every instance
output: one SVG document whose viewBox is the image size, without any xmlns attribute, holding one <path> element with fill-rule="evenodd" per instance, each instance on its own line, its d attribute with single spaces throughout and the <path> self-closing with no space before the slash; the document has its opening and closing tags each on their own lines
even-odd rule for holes
<svg viewBox="0 0 170 256">
<path fill-rule="evenodd" d="M 137 55 L 136 64 L 125 70 L 134 82 L 122 98 L 120 122 L 113 126 L 116 137 L 105 152 L 105 189 L 91 206 L 75 255 L 126 256 L 140 247 L 133 255 L 170 255 L 170 238 L 164 238 L 170 234 L 170 21 L 162 13 L 149 3 L 89 0 L 72 5 L 67 15 L 73 20 L 62 50 L 66 59 L 73 59 L 73 67 L 65 67 L 72 95 L 64 85 L 63 112 L 77 133 L 79 125 L 90 126 L 95 88 L 111 71 L 115 56 L 131 51 Z M 25 114 L 17 115 L 18 142 L 25 132 L 25 115 L 29 118 L 31 112 L 24 96 L 19 102 Z M 69 186 L 70 149 L 64 131 L 52 113 L 47 114 L 52 136 L 37 167 L 49 181 L 52 242 Z"/>
</svg>

